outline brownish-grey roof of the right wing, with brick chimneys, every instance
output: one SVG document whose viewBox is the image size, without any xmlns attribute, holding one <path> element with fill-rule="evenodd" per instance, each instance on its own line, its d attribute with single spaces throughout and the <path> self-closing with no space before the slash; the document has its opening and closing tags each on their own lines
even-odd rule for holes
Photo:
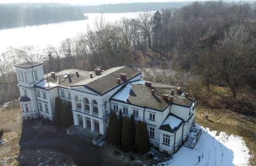
<svg viewBox="0 0 256 166">
<path fill-rule="evenodd" d="M 152 89 L 155 90 L 154 95 L 152 95 Z M 175 90 L 174 95 L 171 94 L 172 89 L 177 89 L 177 86 L 169 86 L 161 83 L 152 82 L 152 86 L 148 87 L 145 84 L 133 84 L 131 86 L 131 91 L 127 98 L 127 102 L 150 107 L 157 110 L 163 110 L 169 105 L 170 101 L 163 99 L 163 94 L 168 94 L 173 96 L 173 102 L 178 105 L 189 106 L 193 98 L 185 98 L 177 94 Z"/>
</svg>

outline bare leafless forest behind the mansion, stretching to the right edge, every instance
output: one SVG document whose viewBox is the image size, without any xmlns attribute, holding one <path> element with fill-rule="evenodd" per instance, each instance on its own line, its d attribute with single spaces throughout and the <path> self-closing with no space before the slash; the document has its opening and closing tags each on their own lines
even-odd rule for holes
<svg viewBox="0 0 256 166">
<path fill-rule="evenodd" d="M 91 71 L 95 66 L 157 68 L 162 71 L 159 78 L 147 77 L 147 72 L 144 77 L 195 92 L 198 86 L 208 91 L 212 85 L 227 87 L 231 95 L 221 99 L 228 101 L 226 105 L 256 114 L 255 103 L 245 103 L 256 93 L 255 15 L 252 3 L 223 1 L 145 12 L 115 24 L 104 22 L 102 15 L 95 20 L 95 30 L 67 38 L 58 48 L 45 48 L 45 56 L 31 53 L 33 46 L 10 47 L 2 54 L 0 72 L 8 76 L 10 66 L 22 59 L 44 61 L 47 73 L 67 68 Z"/>
</svg>

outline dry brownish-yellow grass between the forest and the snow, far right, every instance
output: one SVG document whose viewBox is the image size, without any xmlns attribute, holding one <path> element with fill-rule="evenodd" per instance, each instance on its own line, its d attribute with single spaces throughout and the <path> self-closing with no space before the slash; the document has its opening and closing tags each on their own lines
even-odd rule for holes
<svg viewBox="0 0 256 166">
<path fill-rule="evenodd" d="M 209 120 L 205 115 L 209 115 Z M 196 123 L 217 132 L 239 135 L 243 137 L 246 146 L 250 149 L 251 165 L 256 165 L 256 119 L 227 109 L 210 109 L 198 106 L 196 109 Z"/>
</svg>

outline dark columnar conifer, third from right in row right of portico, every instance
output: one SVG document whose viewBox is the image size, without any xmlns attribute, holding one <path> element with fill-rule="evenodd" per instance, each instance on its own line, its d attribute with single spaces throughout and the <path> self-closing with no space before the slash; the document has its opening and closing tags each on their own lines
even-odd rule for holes
<svg viewBox="0 0 256 166">
<path fill-rule="evenodd" d="M 131 146 L 131 123 L 129 121 L 129 117 L 124 118 L 122 126 L 122 146 L 125 148 Z"/>
</svg>

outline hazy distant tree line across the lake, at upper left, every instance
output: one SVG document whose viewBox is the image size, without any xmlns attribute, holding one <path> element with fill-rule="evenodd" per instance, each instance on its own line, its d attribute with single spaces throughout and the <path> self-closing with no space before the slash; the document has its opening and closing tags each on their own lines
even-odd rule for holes
<svg viewBox="0 0 256 166">
<path fill-rule="evenodd" d="M 83 19 L 83 12 L 72 6 L 0 4 L 0 29 Z"/>
</svg>

